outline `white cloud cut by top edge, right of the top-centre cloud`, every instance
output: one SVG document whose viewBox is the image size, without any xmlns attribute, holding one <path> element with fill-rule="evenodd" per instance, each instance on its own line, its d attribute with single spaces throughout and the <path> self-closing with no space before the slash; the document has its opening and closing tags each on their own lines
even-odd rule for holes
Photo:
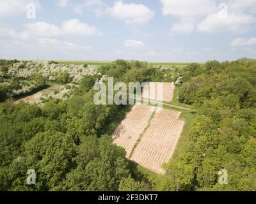
<svg viewBox="0 0 256 204">
<path fill-rule="evenodd" d="M 212 0 L 160 0 L 163 4 L 163 15 L 190 18 L 207 15 L 216 7 Z"/>
</svg>

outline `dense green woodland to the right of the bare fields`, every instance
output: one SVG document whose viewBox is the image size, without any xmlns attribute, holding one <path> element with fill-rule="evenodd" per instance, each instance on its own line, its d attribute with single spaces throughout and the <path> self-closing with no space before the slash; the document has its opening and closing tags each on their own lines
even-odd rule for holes
<svg viewBox="0 0 256 204">
<path fill-rule="evenodd" d="M 209 61 L 183 71 L 179 101 L 198 109 L 182 152 L 166 165 L 166 191 L 256 190 L 256 61 Z M 218 184 L 227 170 L 228 185 Z"/>
</svg>

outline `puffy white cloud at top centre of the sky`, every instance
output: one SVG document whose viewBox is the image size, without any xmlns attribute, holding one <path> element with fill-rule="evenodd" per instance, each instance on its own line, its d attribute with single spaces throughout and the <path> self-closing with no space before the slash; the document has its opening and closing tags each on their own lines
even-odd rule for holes
<svg viewBox="0 0 256 204">
<path fill-rule="evenodd" d="M 108 13 L 126 24 L 145 24 L 154 17 L 154 11 L 151 11 L 143 4 L 123 3 L 116 1 L 113 7 L 108 8 Z"/>
</svg>

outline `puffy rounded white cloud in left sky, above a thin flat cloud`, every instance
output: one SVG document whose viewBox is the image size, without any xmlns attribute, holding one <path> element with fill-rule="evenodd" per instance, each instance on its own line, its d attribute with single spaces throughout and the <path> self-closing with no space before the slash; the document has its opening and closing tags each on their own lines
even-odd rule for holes
<svg viewBox="0 0 256 204">
<path fill-rule="evenodd" d="M 97 27 L 90 26 L 80 22 L 78 19 L 66 20 L 62 24 L 62 30 L 65 34 L 77 36 L 94 36 L 100 35 Z"/>
</svg>

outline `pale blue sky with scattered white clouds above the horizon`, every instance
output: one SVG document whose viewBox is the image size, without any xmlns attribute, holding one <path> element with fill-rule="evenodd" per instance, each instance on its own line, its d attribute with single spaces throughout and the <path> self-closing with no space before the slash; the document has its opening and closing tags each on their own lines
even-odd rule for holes
<svg viewBox="0 0 256 204">
<path fill-rule="evenodd" d="M 256 0 L 1 0 L 0 58 L 234 60 L 255 23 Z"/>
</svg>

